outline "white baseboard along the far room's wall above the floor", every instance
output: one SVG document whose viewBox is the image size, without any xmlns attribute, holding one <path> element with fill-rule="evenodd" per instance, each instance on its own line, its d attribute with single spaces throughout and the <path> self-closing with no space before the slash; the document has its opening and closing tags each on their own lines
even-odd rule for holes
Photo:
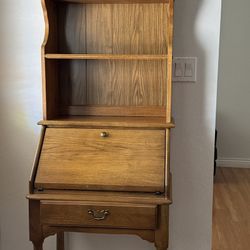
<svg viewBox="0 0 250 250">
<path fill-rule="evenodd" d="M 247 158 L 219 158 L 216 160 L 218 167 L 250 168 L 250 159 Z"/>
</svg>

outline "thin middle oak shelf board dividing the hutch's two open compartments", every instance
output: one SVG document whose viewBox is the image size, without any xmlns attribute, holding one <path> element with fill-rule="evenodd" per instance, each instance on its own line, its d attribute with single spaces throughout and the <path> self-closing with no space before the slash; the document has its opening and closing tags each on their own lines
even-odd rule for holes
<svg viewBox="0 0 250 250">
<path fill-rule="evenodd" d="M 167 60 L 168 55 L 131 55 L 131 54 L 45 54 L 47 59 L 76 60 Z"/>
</svg>

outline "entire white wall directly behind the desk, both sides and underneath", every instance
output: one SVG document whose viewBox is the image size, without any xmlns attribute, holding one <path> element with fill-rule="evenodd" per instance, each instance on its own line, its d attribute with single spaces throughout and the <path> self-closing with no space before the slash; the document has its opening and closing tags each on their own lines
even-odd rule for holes
<svg viewBox="0 0 250 250">
<path fill-rule="evenodd" d="M 0 248 L 32 249 L 28 241 L 28 177 L 41 118 L 39 0 L 0 1 Z M 175 55 L 197 56 L 196 84 L 175 83 L 172 136 L 174 204 L 170 250 L 210 250 L 213 140 L 220 1 L 176 1 Z M 54 240 L 45 250 L 54 248 Z M 68 250 L 153 250 L 132 236 L 78 235 Z"/>
</svg>

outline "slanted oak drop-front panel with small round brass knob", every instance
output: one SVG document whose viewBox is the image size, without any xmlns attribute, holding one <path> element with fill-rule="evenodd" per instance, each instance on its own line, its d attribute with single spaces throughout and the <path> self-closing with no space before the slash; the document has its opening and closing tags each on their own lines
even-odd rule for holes
<svg viewBox="0 0 250 250">
<path fill-rule="evenodd" d="M 164 190 L 165 130 L 47 128 L 35 187 Z"/>
</svg>

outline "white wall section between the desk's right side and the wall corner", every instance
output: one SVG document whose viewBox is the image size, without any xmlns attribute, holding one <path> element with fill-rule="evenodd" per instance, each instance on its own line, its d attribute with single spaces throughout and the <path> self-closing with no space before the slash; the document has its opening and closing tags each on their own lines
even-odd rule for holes
<svg viewBox="0 0 250 250">
<path fill-rule="evenodd" d="M 214 27 L 218 16 L 216 11 L 215 19 L 211 15 L 211 7 L 216 6 L 212 2 L 175 2 L 174 56 L 195 56 L 198 68 L 196 83 L 173 83 L 170 249 L 211 249 L 219 27 L 219 23 Z"/>
</svg>

